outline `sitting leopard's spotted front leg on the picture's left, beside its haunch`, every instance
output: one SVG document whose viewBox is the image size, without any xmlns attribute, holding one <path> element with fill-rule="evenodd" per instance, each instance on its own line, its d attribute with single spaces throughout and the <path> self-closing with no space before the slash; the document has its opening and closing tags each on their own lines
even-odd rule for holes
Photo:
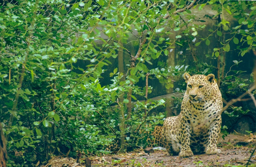
<svg viewBox="0 0 256 167">
<path fill-rule="evenodd" d="M 190 148 L 190 135 L 191 135 L 191 126 L 184 119 L 181 121 L 180 125 L 180 135 L 181 135 L 181 147 L 179 157 L 191 157 L 193 152 Z"/>
</svg>

